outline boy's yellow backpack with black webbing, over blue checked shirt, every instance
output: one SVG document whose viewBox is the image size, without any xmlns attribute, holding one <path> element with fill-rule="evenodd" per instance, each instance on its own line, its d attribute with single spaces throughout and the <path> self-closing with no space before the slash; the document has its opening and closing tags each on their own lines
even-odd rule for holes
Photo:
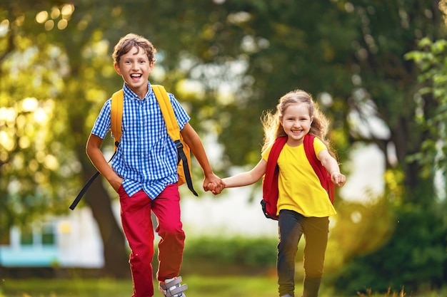
<svg viewBox="0 0 447 297">
<path fill-rule="evenodd" d="M 174 141 L 177 147 L 177 172 L 179 174 L 179 185 L 186 184 L 194 195 L 199 196 L 194 190 L 191 180 L 191 154 L 189 146 L 183 140 L 180 134 L 180 127 L 174 114 L 168 93 L 163 85 L 152 85 L 157 101 L 159 102 L 161 113 L 168 130 L 169 137 Z M 124 91 L 121 89 L 112 95 L 111 99 L 111 130 L 115 139 L 115 150 L 118 148 L 121 140 L 121 121 L 123 118 Z"/>
</svg>

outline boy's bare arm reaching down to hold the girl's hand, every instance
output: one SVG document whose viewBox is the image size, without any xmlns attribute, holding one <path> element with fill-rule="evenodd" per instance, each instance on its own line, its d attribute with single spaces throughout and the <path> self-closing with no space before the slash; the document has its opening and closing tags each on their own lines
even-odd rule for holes
<svg viewBox="0 0 447 297">
<path fill-rule="evenodd" d="M 181 136 L 183 136 L 184 141 L 186 142 L 186 145 L 189 146 L 191 152 L 194 154 L 194 157 L 196 157 L 197 162 L 199 162 L 202 170 L 204 170 L 204 190 L 209 190 L 209 184 L 215 184 L 216 190 L 213 190 L 213 193 L 217 194 L 220 192 L 219 189 L 223 189 L 225 185 L 222 182 L 222 179 L 214 174 L 199 135 L 189 123 L 186 123 L 180 132 Z"/>
</svg>

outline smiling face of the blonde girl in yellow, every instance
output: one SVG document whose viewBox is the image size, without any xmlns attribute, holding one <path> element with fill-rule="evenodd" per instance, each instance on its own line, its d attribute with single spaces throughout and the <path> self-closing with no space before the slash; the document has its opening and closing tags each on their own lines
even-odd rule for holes
<svg viewBox="0 0 447 297">
<path fill-rule="evenodd" d="M 287 144 L 291 147 L 301 145 L 306 135 L 311 130 L 313 116 L 309 114 L 305 103 L 293 103 L 288 105 L 281 117 L 281 124 L 288 136 Z"/>
</svg>

